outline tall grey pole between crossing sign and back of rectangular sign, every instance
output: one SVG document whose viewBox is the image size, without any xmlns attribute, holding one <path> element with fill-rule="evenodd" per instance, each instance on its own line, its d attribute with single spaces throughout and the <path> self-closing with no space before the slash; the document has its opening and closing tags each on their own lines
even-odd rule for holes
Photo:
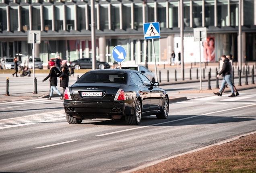
<svg viewBox="0 0 256 173">
<path fill-rule="evenodd" d="M 180 0 L 180 58 L 181 58 L 181 71 L 182 71 L 182 80 L 184 80 L 184 48 L 183 48 L 183 0 Z"/>
</svg>

